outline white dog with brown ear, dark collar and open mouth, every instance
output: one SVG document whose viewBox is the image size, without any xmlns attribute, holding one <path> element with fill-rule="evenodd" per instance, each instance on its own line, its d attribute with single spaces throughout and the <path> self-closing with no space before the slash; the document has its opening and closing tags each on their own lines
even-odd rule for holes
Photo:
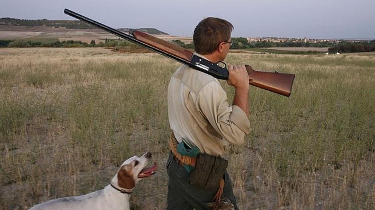
<svg viewBox="0 0 375 210">
<path fill-rule="evenodd" d="M 135 184 L 142 178 L 151 176 L 156 171 L 156 163 L 149 168 L 145 168 L 150 161 L 150 152 L 145 153 L 142 157 L 131 157 L 123 162 L 111 183 L 104 189 L 86 195 L 54 199 L 35 205 L 30 210 L 128 210 L 130 209 L 130 194 Z"/>
</svg>

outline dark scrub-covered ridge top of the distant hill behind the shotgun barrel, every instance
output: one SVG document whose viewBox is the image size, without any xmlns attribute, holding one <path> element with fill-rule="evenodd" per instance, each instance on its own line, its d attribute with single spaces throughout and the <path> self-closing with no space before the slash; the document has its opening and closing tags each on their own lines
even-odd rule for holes
<svg viewBox="0 0 375 210">
<path fill-rule="evenodd" d="M 90 24 L 84 23 L 80 20 L 24 20 L 17 18 L 0 18 L 0 27 L 1 26 L 46 26 L 51 28 L 65 27 L 66 29 L 97 29 L 95 26 L 91 26 Z M 123 32 L 129 32 L 129 29 L 127 28 L 120 28 L 119 30 Z M 154 28 L 140 28 L 138 30 L 150 34 L 168 35 L 168 33 Z"/>
</svg>

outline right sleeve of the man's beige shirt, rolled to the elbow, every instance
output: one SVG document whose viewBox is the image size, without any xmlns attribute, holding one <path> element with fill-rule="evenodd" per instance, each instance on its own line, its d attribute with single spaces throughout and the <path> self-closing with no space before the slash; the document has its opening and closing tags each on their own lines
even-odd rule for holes
<svg viewBox="0 0 375 210">
<path fill-rule="evenodd" d="M 228 103 L 226 92 L 216 81 L 201 89 L 196 100 L 196 108 L 214 130 L 232 144 L 242 144 L 245 135 L 251 131 L 246 113 L 240 107 Z"/>
</svg>

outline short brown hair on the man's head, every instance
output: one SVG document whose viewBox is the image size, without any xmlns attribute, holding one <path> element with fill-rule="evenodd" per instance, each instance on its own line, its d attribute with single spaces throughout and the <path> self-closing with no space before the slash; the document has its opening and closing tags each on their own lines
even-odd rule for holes
<svg viewBox="0 0 375 210">
<path fill-rule="evenodd" d="M 221 18 L 208 17 L 203 19 L 194 29 L 193 42 L 199 54 L 211 54 L 220 42 L 228 41 L 233 25 Z"/>
</svg>

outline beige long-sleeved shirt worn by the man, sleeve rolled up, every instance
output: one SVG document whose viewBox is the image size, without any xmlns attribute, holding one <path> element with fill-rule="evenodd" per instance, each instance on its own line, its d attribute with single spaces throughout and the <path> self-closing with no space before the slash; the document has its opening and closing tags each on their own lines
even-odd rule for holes
<svg viewBox="0 0 375 210">
<path fill-rule="evenodd" d="M 178 142 L 212 156 L 221 156 L 228 142 L 242 144 L 251 131 L 246 113 L 228 103 L 219 81 L 185 65 L 169 82 L 168 118 Z"/>
</svg>

